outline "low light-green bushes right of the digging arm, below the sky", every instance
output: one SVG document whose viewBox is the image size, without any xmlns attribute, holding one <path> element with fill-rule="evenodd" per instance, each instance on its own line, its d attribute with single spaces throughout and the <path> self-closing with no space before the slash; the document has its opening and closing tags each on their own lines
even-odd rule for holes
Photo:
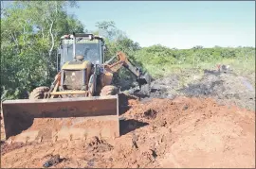
<svg viewBox="0 0 256 169">
<path fill-rule="evenodd" d="M 192 49 L 170 49 L 161 45 L 139 50 L 135 58 L 142 62 L 152 76 L 159 77 L 179 69 L 212 69 L 216 64 L 229 64 L 234 71 L 255 72 L 255 48 L 253 47 L 214 47 Z"/>
</svg>

